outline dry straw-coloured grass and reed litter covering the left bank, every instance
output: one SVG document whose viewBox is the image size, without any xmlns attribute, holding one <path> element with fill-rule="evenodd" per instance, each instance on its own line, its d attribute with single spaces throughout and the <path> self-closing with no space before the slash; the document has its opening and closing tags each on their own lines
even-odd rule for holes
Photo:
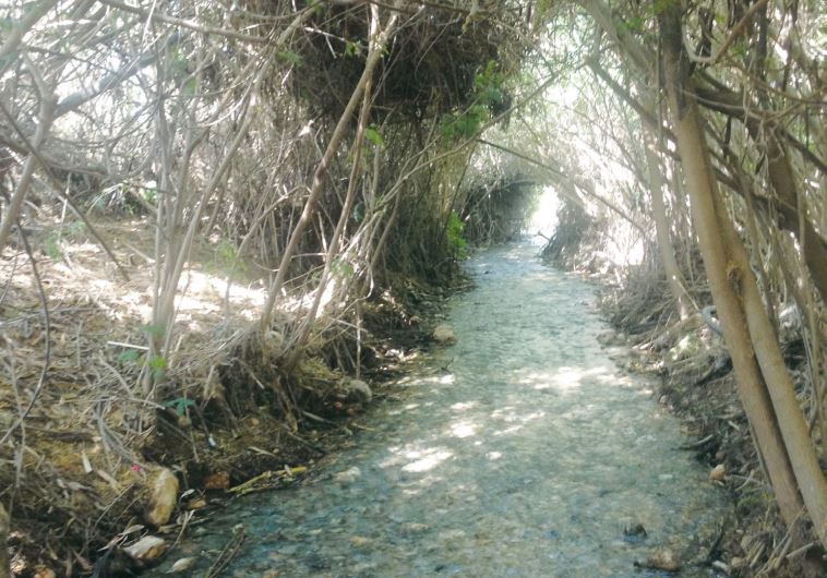
<svg viewBox="0 0 827 578">
<path fill-rule="evenodd" d="M 20 575 L 38 564 L 67 575 L 89 570 L 98 549 L 143 523 L 158 463 L 202 491 L 216 472 L 235 484 L 317 456 L 317 444 L 279 411 L 284 405 L 260 406 L 278 396 L 307 404 L 309 390 L 324 398 L 341 376 L 305 361 L 287 383 L 272 363 L 280 341 L 262 346 L 250 329 L 262 282 L 232 272 L 227 301 L 232 264 L 220 243 L 204 243 L 181 281 L 169 366 L 144 395 L 154 233 L 143 220 L 97 228 L 129 280 L 82 230 L 53 224 L 28 238 L 48 299 L 48 334 L 25 252 L 12 248 L 0 258 L 0 499 L 11 504 Z M 266 382 L 255 383 L 255 374 Z"/>
</svg>

